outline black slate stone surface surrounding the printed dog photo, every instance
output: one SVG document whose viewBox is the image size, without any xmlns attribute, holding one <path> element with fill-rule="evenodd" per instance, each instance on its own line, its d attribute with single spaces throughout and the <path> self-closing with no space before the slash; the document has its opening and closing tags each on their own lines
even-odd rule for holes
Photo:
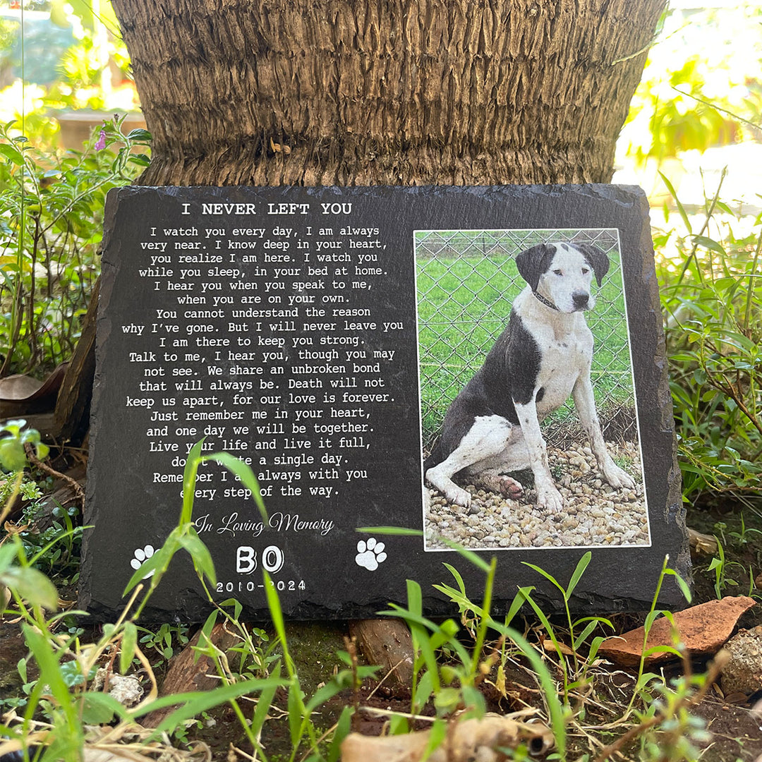
<svg viewBox="0 0 762 762">
<path fill-rule="evenodd" d="M 327 214 L 322 213 L 324 204 L 328 205 Z M 352 205 L 349 214 L 343 213 L 346 204 Z M 379 228 L 379 233 L 350 231 L 341 235 L 338 231 L 347 226 L 356 230 Z M 287 237 L 276 235 L 276 227 L 291 232 Z M 333 232 L 321 233 L 321 228 Z M 299 472 L 301 478 L 293 479 L 290 486 L 302 491 L 301 495 L 282 494 L 289 491 L 289 485 L 284 483 L 287 479 L 261 479 L 261 485 L 271 492 L 264 498 L 271 521 L 277 524 L 277 517 L 284 518 L 280 530 L 265 527 L 259 531 L 256 522 L 261 518 L 251 499 L 223 497 L 224 489 L 241 488 L 235 478 L 229 473 L 223 476 L 219 466 L 202 466 L 200 474 L 206 481 L 199 482 L 197 489 L 217 491 L 213 499 L 208 499 L 208 493 L 197 497 L 194 519 L 201 539 L 212 553 L 221 584 L 219 590 L 213 590 L 216 600 L 236 597 L 249 618 L 267 617 L 261 576 L 267 548 L 267 565 L 274 569 L 271 576 L 280 591 L 281 605 L 292 619 L 372 616 L 386 609 L 389 601 L 405 604 L 408 578 L 421 584 L 427 613 L 452 613 L 452 604 L 432 588 L 433 584 L 452 581 L 443 562 L 458 568 L 469 596 L 480 600 L 482 572 L 454 551 L 424 550 L 421 536 L 370 535 L 384 543 L 386 558 L 380 562 L 376 559 L 373 570 L 357 562 L 357 543 L 369 538 L 358 533 L 357 527 L 423 528 L 414 232 L 601 228 L 618 230 L 620 238 L 650 545 L 594 547 L 573 604 L 577 610 L 599 612 L 647 609 L 664 556 L 670 555 L 671 567 L 684 577 L 690 573 L 690 556 L 680 501 L 648 203 L 638 188 L 614 185 L 128 187 L 111 191 L 105 220 L 85 514 L 85 523 L 93 528 L 85 533 L 80 605 L 102 619 L 116 616 L 121 610 L 136 550 L 149 545 L 158 548 L 178 521 L 182 485 L 165 479 L 177 479 L 182 474 L 181 463 L 188 447 L 202 438 L 207 426 L 226 427 L 223 435 L 207 434 L 207 442 L 213 444 L 214 450 L 227 449 L 250 457 L 258 474 Z M 212 233 L 207 238 L 207 229 L 224 229 L 225 234 Z M 264 229 L 263 237 L 251 232 L 253 229 Z M 234 234 L 235 230 L 243 232 Z M 378 240 L 386 248 L 353 249 L 349 260 L 342 260 L 340 255 L 349 251 L 350 239 Z M 219 249 L 215 243 L 218 240 Z M 317 241 L 331 240 L 341 240 L 341 247 L 318 251 Z M 257 245 L 231 251 L 231 241 Z M 268 241 L 271 248 L 264 248 Z M 309 241 L 309 249 L 297 248 L 299 242 L 305 241 Z M 164 242 L 167 246 L 162 251 L 160 244 Z M 176 248 L 178 242 L 187 244 L 187 248 Z M 289 248 L 275 248 L 285 242 Z M 152 248 L 151 244 L 157 246 Z M 309 251 L 309 261 L 304 260 L 305 251 Z M 319 253 L 338 256 L 335 261 L 321 261 Z M 370 260 L 366 264 L 379 267 L 382 274 L 354 276 L 360 253 L 376 254 L 378 262 Z M 222 260 L 213 261 L 218 255 Z M 258 260 L 243 263 L 245 255 L 255 255 Z M 276 262 L 272 259 L 276 256 L 290 257 L 291 261 Z M 157 258 L 153 264 L 152 257 Z M 168 259 L 162 259 L 165 257 Z M 181 262 L 181 257 L 186 259 Z M 205 257 L 206 261 L 193 261 L 194 257 Z M 309 274 L 308 265 L 319 272 Z M 348 268 L 346 276 L 336 274 L 341 267 Z M 290 274 L 296 268 L 299 274 Z M 277 269 L 283 272 L 276 273 Z M 166 274 L 169 270 L 171 276 Z M 197 272 L 183 276 L 181 271 Z M 344 282 L 344 287 L 332 285 L 335 280 Z M 170 289 L 169 283 L 178 288 Z M 257 286 L 240 289 L 232 287 L 232 283 Z M 179 288 L 183 286 L 187 290 Z M 259 296 L 261 301 L 242 303 L 242 295 Z M 342 295 L 347 301 L 335 300 Z M 183 303 L 180 299 L 184 296 L 203 296 L 205 302 Z M 271 296 L 281 296 L 283 301 L 271 303 Z M 315 301 L 308 304 L 309 299 L 294 299 L 299 304 L 289 306 L 290 296 L 315 296 Z M 220 297 L 216 305 L 215 297 Z M 324 301 L 324 297 L 328 300 Z M 299 308 L 296 318 L 232 317 L 233 310 L 293 306 Z M 308 316 L 308 306 L 325 309 L 325 314 Z M 370 315 L 334 317 L 331 310 L 337 306 L 367 309 Z M 189 318 L 184 316 L 188 311 L 214 315 Z M 325 325 L 344 320 L 354 326 L 347 329 L 337 325 L 331 329 Z M 283 325 L 288 321 L 293 326 Z M 402 327 L 385 332 L 384 324 Z M 136 333 L 141 326 L 142 332 Z M 357 338 L 357 346 L 319 343 L 331 336 Z M 204 338 L 207 344 L 212 339 L 228 344 L 203 345 Z M 291 347 L 291 338 L 301 340 L 301 347 Z M 279 346 L 280 339 L 285 340 L 283 347 Z M 181 345 L 182 341 L 187 345 Z M 299 348 L 326 353 L 331 347 L 338 350 L 338 359 L 305 360 L 298 354 Z M 343 359 L 344 350 L 367 351 L 368 356 L 360 364 L 370 369 L 354 370 L 352 361 Z M 395 354 L 392 360 L 376 359 L 373 350 L 393 350 Z M 251 351 L 257 357 L 230 359 L 228 351 Z M 264 360 L 264 352 L 279 354 L 280 359 L 270 355 L 271 359 Z M 174 355 L 177 357 L 172 359 Z M 379 370 L 373 368 L 376 363 Z M 305 367 L 303 373 L 294 373 L 294 367 L 310 364 L 327 368 L 325 372 L 309 373 Z M 346 366 L 346 371 L 331 370 L 336 365 Z M 260 368 L 261 373 L 239 372 L 244 367 Z M 273 368 L 276 373 L 271 372 Z M 277 373 L 279 368 L 284 372 Z M 338 379 L 347 379 L 347 384 L 354 379 L 358 386 L 332 386 L 331 380 Z M 289 383 L 294 381 L 299 386 L 289 389 Z M 239 386 L 225 389 L 222 383 L 219 389 L 212 388 L 220 382 Z M 144 384 L 142 389 L 140 384 Z M 267 384 L 272 386 L 267 388 Z M 178 385 L 186 386 L 179 389 Z M 342 402 L 345 393 L 388 394 L 389 399 Z M 251 400 L 243 403 L 234 395 Z M 289 395 L 295 401 L 289 402 Z M 335 395 L 335 401 L 326 401 L 325 395 Z M 280 402 L 274 402 L 276 397 Z M 197 402 L 184 404 L 183 399 Z M 209 403 L 210 399 L 213 402 Z M 128 400 L 152 402 L 127 405 Z M 331 409 L 338 408 L 361 410 L 368 417 L 363 418 L 361 413 L 331 417 Z M 296 411 L 301 411 L 298 423 Z M 196 413 L 241 413 L 242 418 L 191 420 L 191 414 Z M 158 420 L 152 421 L 154 417 Z M 344 431 L 318 433 L 316 423 L 352 425 Z M 283 424 L 282 429 L 279 424 Z M 294 428 L 294 424 L 305 428 Z M 234 426 L 248 427 L 248 432 L 235 434 Z M 256 427 L 267 426 L 272 428 L 258 433 Z M 178 428 L 195 431 L 178 433 Z M 339 446 L 337 440 L 341 437 L 344 442 Z M 325 439 L 331 444 L 321 443 Z M 151 442 L 155 443 L 153 452 Z M 302 460 L 293 465 L 296 461 L 282 461 L 292 465 L 276 465 L 278 457 L 309 456 L 314 458 L 313 463 Z M 338 465 L 331 461 L 335 456 L 342 457 Z M 262 457 L 266 463 L 261 462 Z M 340 475 L 331 479 L 330 469 L 334 467 Z M 322 475 L 307 475 L 321 468 L 325 469 Z M 367 477 L 347 482 L 345 468 L 367 473 Z M 332 487 L 331 495 L 311 495 L 310 486 Z M 234 522 L 228 518 L 232 514 L 238 514 L 239 522 L 250 522 L 249 527 L 239 527 L 234 534 Z M 297 515 L 301 521 L 315 522 L 315 526 L 294 530 Z M 242 546 L 251 550 L 239 551 Z M 248 574 L 237 571 L 237 561 L 239 567 L 245 566 L 254 552 L 257 568 Z M 370 552 L 378 555 L 377 549 Z M 555 588 L 522 562 L 540 565 L 559 581 L 567 581 L 584 552 L 584 547 L 494 547 L 479 551 L 487 560 L 492 555 L 498 557 L 495 610 L 506 610 L 517 586 L 527 584 L 536 586 L 543 605 L 559 606 Z M 280 558 L 283 563 L 277 568 Z M 668 578 L 661 605 L 679 607 L 682 602 L 677 585 Z M 209 610 L 189 557 L 178 553 L 152 597 L 146 616 L 197 621 Z"/>
</svg>

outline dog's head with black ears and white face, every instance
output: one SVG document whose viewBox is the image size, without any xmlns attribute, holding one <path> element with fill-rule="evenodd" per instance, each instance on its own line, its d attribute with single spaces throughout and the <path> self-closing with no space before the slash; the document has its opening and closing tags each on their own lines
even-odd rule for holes
<svg viewBox="0 0 762 762">
<path fill-rule="evenodd" d="M 591 293 L 609 269 L 609 258 L 589 243 L 543 243 L 516 256 L 516 266 L 534 293 L 559 312 L 581 312 L 595 306 Z"/>
</svg>

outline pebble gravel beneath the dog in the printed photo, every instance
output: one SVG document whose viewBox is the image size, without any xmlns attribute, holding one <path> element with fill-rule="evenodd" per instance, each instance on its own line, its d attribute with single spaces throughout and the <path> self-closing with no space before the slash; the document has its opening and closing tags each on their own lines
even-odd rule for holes
<svg viewBox="0 0 762 762">
<path fill-rule="evenodd" d="M 518 500 L 464 485 L 472 495 L 466 509 L 449 504 L 435 489 L 426 507 L 426 547 L 443 549 L 437 536 L 471 549 L 648 546 L 648 511 L 636 443 L 607 443 L 609 453 L 636 480 L 634 490 L 614 489 L 597 470 L 590 447 L 548 447 L 550 472 L 564 508 L 550 513 L 526 488 Z M 521 479 L 519 479 L 521 481 Z"/>
</svg>

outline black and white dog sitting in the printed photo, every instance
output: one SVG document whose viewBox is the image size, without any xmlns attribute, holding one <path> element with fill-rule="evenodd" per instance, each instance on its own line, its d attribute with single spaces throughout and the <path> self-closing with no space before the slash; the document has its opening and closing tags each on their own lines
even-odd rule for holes
<svg viewBox="0 0 762 762">
<path fill-rule="evenodd" d="M 591 283 L 595 277 L 600 286 L 607 255 L 590 244 L 540 244 L 521 251 L 516 264 L 527 287 L 484 365 L 447 410 L 424 463 L 427 481 L 448 501 L 468 507 L 471 495 L 453 482 L 456 473 L 517 498 L 521 485 L 506 473 L 531 468 L 537 504 L 561 510 L 539 424 L 571 394 L 604 478 L 633 488 L 632 477 L 607 453 L 590 380 L 593 335 L 583 313 L 595 304 Z"/>
</svg>

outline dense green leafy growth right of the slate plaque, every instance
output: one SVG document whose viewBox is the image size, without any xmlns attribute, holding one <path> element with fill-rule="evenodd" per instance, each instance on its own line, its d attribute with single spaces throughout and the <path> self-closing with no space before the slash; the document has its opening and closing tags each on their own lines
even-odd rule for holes
<svg viewBox="0 0 762 762">
<path fill-rule="evenodd" d="M 731 213 L 718 188 L 693 232 L 674 188 L 664 182 L 684 226 L 660 242 L 673 242 L 680 258 L 659 260 L 684 499 L 695 502 L 709 491 L 756 493 L 762 472 L 762 219 L 754 235 L 709 237 L 715 216 Z"/>
</svg>

